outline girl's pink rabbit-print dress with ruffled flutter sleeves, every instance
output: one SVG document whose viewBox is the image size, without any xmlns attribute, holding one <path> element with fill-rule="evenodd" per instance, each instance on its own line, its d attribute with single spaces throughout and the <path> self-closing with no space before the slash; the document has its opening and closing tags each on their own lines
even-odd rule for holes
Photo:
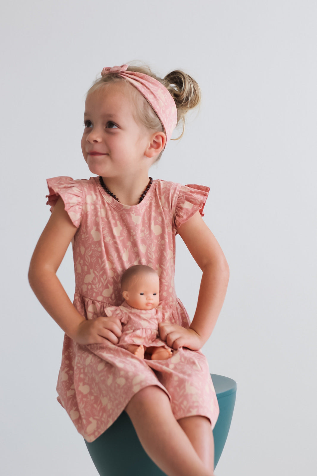
<svg viewBox="0 0 317 476">
<path fill-rule="evenodd" d="M 122 304 L 120 278 L 136 264 L 154 268 L 160 278 L 165 321 L 189 327 L 174 289 L 177 228 L 200 210 L 209 188 L 154 180 L 143 201 L 126 206 L 107 195 L 98 177 L 48 179 L 48 204 L 58 196 L 73 224 L 74 306 L 86 319 L 106 316 Z M 51 208 L 52 209 L 52 208 Z M 219 407 L 206 357 L 181 347 L 166 360 L 146 360 L 109 341 L 80 345 L 65 335 L 58 375 L 58 401 L 78 432 L 94 441 L 121 414 L 140 389 L 156 385 L 166 392 L 176 419 L 208 417 L 214 427 Z"/>
</svg>

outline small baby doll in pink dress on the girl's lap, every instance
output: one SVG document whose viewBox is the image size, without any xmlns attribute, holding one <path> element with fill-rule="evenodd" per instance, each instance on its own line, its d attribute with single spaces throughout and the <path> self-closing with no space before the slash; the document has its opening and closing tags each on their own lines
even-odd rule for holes
<svg viewBox="0 0 317 476">
<path fill-rule="evenodd" d="M 117 345 L 140 358 L 144 358 L 144 354 L 152 360 L 171 357 L 172 349 L 158 338 L 163 310 L 158 307 L 160 282 L 157 273 L 149 266 L 132 266 L 122 275 L 121 290 L 125 302 L 105 309 L 107 316 L 117 316 L 123 324 Z"/>
</svg>

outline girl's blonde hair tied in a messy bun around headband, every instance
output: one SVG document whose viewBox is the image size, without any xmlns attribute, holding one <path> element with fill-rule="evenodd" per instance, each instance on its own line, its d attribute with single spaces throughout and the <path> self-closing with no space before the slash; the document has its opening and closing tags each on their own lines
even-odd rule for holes
<svg viewBox="0 0 317 476">
<path fill-rule="evenodd" d="M 127 70 L 147 74 L 148 76 L 151 76 L 152 78 L 162 83 L 163 86 L 168 89 L 176 104 L 177 126 L 183 126 L 181 135 L 176 139 L 171 140 L 181 139 L 185 130 L 186 113 L 190 109 L 193 109 L 198 106 L 201 100 L 201 91 L 198 86 L 198 83 L 191 76 L 189 76 L 189 74 L 184 73 L 180 69 L 175 69 L 174 71 L 171 71 L 163 79 L 156 76 L 146 65 L 130 65 L 128 66 Z M 96 89 L 105 86 L 106 84 L 115 83 L 118 81 L 125 81 L 125 84 L 131 86 L 131 84 L 126 81 L 125 78 L 122 78 L 119 74 L 107 74 L 106 76 L 103 76 L 100 79 L 96 79 L 92 87 L 88 90 L 87 96 Z M 147 129 L 164 132 L 160 119 L 154 112 L 154 109 L 151 107 L 151 105 L 142 96 L 142 94 L 133 86 L 129 88 L 129 94 L 131 94 L 131 98 L 134 100 L 135 103 L 135 119 L 140 124 L 144 125 Z M 161 155 L 162 152 L 158 156 L 157 160 L 160 159 Z"/>
</svg>

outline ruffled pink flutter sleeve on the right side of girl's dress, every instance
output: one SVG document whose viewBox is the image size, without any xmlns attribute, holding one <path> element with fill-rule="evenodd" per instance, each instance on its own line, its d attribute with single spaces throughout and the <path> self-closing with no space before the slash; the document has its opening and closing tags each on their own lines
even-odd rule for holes
<svg viewBox="0 0 317 476">
<path fill-rule="evenodd" d="M 175 208 L 175 228 L 176 230 L 191 218 L 196 211 L 199 211 L 203 217 L 203 208 L 205 206 L 209 187 L 203 185 L 185 185 L 179 190 L 176 208 Z"/>
</svg>

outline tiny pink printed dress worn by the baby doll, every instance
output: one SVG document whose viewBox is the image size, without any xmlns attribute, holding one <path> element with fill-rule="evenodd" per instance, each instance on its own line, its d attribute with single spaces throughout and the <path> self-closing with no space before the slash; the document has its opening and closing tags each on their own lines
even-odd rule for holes
<svg viewBox="0 0 317 476">
<path fill-rule="evenodd" d="M 154 309 L 135 309 L 124 302 L 121 306 L 106 307 L 105 313 L 107 316 L 118 317 L 123 324 L 117 346 L 126 348 L 130 344 L 142 344 L 145 347 L 170 348 L 158 336 L 158 323 L 164 320 L 161 306 Z"/>
</svg>

